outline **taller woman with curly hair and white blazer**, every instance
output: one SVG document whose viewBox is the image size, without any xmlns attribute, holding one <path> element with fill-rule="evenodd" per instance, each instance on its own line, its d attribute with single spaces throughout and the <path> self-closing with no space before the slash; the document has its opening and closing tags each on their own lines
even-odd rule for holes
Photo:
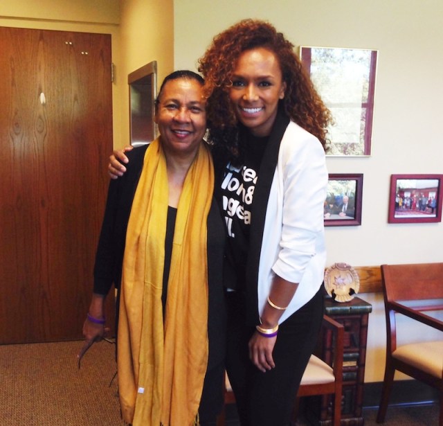
<svg viewBox="0 0 443 426">
<path fill-rule="evenodd" d="M 289 425 L 323 317 L 329 112 L 293 45 L 264 21 L 199 61 L 228 232 L 226 370 L 242 425 Z M 217 166 L 216 166 L 217 168 Z"/>
</svg>

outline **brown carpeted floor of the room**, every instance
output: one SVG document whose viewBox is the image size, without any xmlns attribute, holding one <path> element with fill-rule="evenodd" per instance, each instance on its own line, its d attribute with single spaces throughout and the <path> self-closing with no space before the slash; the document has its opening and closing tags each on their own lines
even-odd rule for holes
<svg viewBox="0 0 443 426">
<path fill-rule="evenodd" d="M 0 346 L 0 426 L 122 425 L 117 382 L 111 382 L 114 345 L 94 344 L 79 370 L 81 347 L 82 341 Z M 384 424 L 437 426 L 438 411 L 437 405 L 389 407 Z M 377 425 L 376 415 L 375 409 L 365 409 L 365 426 Z M 226 422 L 238 425 L 235 415 Z"/>
</svg>

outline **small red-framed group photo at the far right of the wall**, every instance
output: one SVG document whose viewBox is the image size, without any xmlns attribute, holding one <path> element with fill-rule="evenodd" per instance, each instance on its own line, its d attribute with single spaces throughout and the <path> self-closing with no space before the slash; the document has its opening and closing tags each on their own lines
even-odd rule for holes
<svg viewBox="0 0 443 426">
<path fill-rule="evenodd" d="M 391 175 L 388 223 L 442 221 L 443 175 Z"/>
</svg>

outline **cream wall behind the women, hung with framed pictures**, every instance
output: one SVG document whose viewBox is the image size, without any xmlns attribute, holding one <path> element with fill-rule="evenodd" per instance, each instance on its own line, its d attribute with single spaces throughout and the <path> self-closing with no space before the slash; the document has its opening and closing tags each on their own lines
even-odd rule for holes
<svg viewBox="0 0 443 426">
<path fill-rule="evenodd" d="M 327 159 L 330 173 L 363 173 L 362 224 L 327 228 L 327 264 L 443 260 L 442 223 L 387 223 L 391 174 L 443 173 L 441 0 L 175 0 L 174 16 L 176 68 L 194 69 L 211 38 L 246 17 L 269 20 L 296 46 L 377 49 L 372 157 Z M 379 381 L 383 301 L 361 296 L 373 304 L 365 380 Z"/>
</svg>

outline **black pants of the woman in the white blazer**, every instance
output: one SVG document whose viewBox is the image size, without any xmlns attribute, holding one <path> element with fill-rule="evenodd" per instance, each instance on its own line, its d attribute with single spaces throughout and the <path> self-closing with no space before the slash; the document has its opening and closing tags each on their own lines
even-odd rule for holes
<svg viewBox="0 0 443 426">
<path fill-rule="evenodd" d="M 289 426 L 293 404 L 323 319 L 323 294 L 284 321 L 273 350 L 275 368 L 262 373 L 249 360 L 248 341 L 255 328 L 245 326 L 245 301 L 239 292 L 226 294 L 228 346 L 226 371 L 233 387 L 242 426 Z"/>
</svg>

